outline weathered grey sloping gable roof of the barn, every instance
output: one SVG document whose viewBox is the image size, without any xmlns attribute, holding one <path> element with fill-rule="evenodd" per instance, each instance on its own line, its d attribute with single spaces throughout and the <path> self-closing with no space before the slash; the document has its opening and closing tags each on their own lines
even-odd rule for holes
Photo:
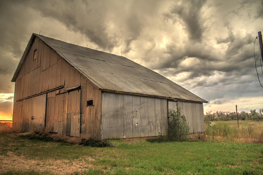
<svg viewBox="0 0 263 175">
<path fill-rule="evenodd" d="M 207 103 L 182 86 L 123 56 L 77 46 L 33 33 L 18 64 L 12 82 L 26 58 L 34 38 L 38 37 L 64 58 L 100 90 L 160 96 Z"/>
</svg>

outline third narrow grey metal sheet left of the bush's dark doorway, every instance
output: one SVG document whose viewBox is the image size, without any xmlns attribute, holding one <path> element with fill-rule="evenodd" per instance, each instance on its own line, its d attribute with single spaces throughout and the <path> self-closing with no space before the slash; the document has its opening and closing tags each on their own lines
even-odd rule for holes
<svg viewBox="0 0 263 175">
<path fill-rule="evenodd" d="M 148 116 L 149 136 L 155 136 L 155 98 L 148 98 Z"/>
</svg>

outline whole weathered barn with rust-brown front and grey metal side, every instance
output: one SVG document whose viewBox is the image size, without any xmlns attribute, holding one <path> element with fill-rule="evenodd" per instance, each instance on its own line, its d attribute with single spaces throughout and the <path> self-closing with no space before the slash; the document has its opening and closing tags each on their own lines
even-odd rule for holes
<svg viewBox="0 0 263 175">
<path fill-rule="evenodd" d="M 181 108 L 189 134 L 204 133 L 204 99 L 125 57 L 32 34 L 11 80 L 13 126 L 67 136 L 167 135 Z"/>
</svg>

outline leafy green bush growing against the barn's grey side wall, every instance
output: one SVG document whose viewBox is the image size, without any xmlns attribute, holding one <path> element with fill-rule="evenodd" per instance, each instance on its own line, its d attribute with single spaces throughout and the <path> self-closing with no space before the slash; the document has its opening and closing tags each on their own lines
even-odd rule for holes
<svg viewBox="0 0 263 175">
<path fill-rule="evenodd" d="M 181 114 L 181 108 L 169 111 L 169 130 L 168 137 L 174 141 L 186 141 L 189 134 L 189 127 L 186 118 Z"/>
</svg>

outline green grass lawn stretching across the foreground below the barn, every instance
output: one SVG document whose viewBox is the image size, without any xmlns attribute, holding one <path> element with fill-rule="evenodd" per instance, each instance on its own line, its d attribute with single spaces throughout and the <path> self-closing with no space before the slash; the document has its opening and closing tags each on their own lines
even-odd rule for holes
<svg viewBox="0 0 263 175">
<path fill-rule="evenodd" d="M 59 168 L 52 167 L 55 161 L 77 167 L 65 174 L 263 174 L 262 144 L 111 142 L 116 146 L 93 148 L 0 134 L 1 159 L 8 158 L 6 153 L 11 152 L 24 161 L 38 164 L 25 170 L 24 164 L 14 169 L 10 162 L 9 170 L 0 174 L 52 174 Z M 39 169 L 42 164 L 47 169 Z"/>
</svg>

